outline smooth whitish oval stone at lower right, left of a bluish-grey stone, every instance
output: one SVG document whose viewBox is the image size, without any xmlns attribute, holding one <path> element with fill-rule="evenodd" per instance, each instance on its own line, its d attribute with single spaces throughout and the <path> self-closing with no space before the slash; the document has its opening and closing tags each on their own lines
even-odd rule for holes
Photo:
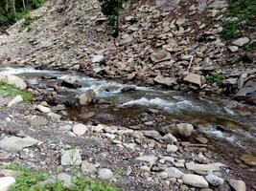
<svg viewBox="0 0 256 191">
<path fill-rule="evenodd" d="M 198 188 L 207 188 L 209 187 L 208 182 L 203 179 L 203 177 L 194 175 L 194 174 L 185 174 L 182 177 L 183 183 L 191 185 Z"/>
</svg>

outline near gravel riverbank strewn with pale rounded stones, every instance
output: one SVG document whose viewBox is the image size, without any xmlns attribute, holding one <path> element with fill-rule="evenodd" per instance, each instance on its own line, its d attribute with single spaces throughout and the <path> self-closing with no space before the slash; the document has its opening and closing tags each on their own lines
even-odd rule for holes
<svg viewBox="0 0 256 191">
<path fill-rule="evenodd" d="M 15 79 L 19 83 L 12 84 L 24 84 Z M 201 135 L 191 139 L 197 128 L 193 124 L 171 120 L 169 128 L 149 129 L 164 118 L 152 110 L 139 117 L 143 126 L 82 124 L 62 120 L 46 102 L 0 100 L 1 165 L 18 163 L 52 174 L 58 166 L 66 185 L 76 167 L 84 176 L 113 182 L 122 190 L 245 190 L 244 181 L 247 190 L 255 188 L 253 175 L 219 156 L 211 141 Z M 5 172 L 0 171 L 2 177 Z"/>
</svg>

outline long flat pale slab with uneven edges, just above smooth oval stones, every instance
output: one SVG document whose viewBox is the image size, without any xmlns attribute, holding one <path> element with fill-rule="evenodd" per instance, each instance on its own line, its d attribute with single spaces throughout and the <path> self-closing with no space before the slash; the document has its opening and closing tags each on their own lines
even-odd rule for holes
<svg viewBox="0 0 256 191">
<path fill-rule="evenodd" d="M 186 163 L 186 168 L 188 170 L 205 171 L 208 173 L 212 173 L 214 171 L 220 171 L 221 166 L 225 166 L 225 165 L 220 162 L 210 163 L 210 164 L 198 164 L 198 163 L 195 163 L 194 161 L 191 161 Z"/>
</svg>

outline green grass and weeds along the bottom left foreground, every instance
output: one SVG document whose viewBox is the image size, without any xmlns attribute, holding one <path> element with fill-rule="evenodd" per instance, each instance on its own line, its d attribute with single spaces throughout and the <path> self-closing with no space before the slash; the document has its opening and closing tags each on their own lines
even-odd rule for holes
<svg viewBox="0 0 256 191">
<path fill-rule="evenodd" d="M 97 182 L 93 180 L 85 179 L 80 173 L 77 173 L 72 177 L 73 186 L 65 187 L 63 182 L 57 180 L 53 183 L 41 183 L 47 180 L 49 176 L 46 173 L 32 172 L 31 170 L 22 166 L 11 164 L 2 166 L 2 169 L 12 169 L 18 171 L 18 175 L 15 178 L 16 183 L 11 187 L 9 191 L 118 191 L 119 189 L 104 182 Z M 58 171 L 56 171 L 58 173 Z M 56 175 L 57 177 L 57 175 Z"/>
</svg>

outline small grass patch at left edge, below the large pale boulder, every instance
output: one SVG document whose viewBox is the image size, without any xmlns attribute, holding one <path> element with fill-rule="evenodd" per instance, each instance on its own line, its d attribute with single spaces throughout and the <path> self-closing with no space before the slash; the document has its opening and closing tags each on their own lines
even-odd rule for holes
<svg viewBox="0 0 256 191">
<path fill-rule="evenodd" d="M 14 86 L 4 82 L 0 82 L 0 94 L 3 96 L 19 95 L 22 96 L 25 101 L 31 101 L 33 99 L 33 95 L 31 93 L 15 88 Z"/>
</svg>

